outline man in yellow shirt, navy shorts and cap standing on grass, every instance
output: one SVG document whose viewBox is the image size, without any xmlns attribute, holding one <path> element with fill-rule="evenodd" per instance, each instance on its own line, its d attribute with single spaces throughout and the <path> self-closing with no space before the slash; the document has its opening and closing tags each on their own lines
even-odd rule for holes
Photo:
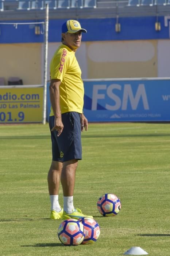
<svg viewBox="0 0 170 256">
<path fill-rule="evenodd" d="M 51 200 L 51 219 L 79 219 L 91 217 L 82 214 L 73 205 L 75 174 L 78 160 L 82 159 L 81 131 L 88 129 L 88 120 L 82 113 L 84 86 L 81 69 L 75 57 L 81 45 L 81 33 L 86 33 L 77 20 L 62 25 L 62 45 L 50 63 L 49 127 L 52 141 L 52 163 L 48 173 Z M 64 207 L 58 202 L 59 183 L 63 189 Z"/>
</svg>

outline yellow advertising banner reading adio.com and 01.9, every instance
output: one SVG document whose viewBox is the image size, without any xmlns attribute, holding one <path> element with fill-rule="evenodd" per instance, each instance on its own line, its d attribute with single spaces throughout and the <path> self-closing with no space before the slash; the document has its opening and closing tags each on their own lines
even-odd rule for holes
<svg viewBox="0 0 170 256">
<path fill-rule="evenodd" d="M 42 86 L 0 88 L 0 123 L 42 123 Z"/>
</svg>

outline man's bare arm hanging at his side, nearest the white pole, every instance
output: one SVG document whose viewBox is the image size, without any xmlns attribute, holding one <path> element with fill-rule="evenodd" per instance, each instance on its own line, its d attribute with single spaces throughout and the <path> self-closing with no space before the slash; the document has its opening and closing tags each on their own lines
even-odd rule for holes
<svg viewBox="0 0 170 256">
<path fill-rule="evenodd" d="M 57 130 L 59 136 L 62 133 L 63 130 L 63 123 L 61 119 L 61 109 L 60 109 L 60 100 L 59 100 L 59 86 L 61 84 L 61 81 L 59 79 L 51 79 L 50 82 L 50 101 L 51 101 L 51 107 L 53 109 L 54 113 L 54 127 L 51 131 Z"/>
</svg>

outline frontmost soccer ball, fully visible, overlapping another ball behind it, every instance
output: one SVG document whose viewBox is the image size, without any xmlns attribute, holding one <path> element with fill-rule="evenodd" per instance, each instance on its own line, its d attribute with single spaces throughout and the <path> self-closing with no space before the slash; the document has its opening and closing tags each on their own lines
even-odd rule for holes
<svg viewBox="0 0 170 256">
<path fill-rule="evenodd" d="M 58 227 L 58 238 L 65 245 L 79 245 L 85 237 L 84 226 L 77 219 L 66 219 Z"/>
</svg>

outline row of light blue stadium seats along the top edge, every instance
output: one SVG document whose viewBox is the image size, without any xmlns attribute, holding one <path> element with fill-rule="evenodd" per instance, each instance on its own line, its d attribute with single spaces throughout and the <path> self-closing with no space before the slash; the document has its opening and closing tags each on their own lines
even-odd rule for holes
<svg viewBox="0 0 170 256">
<path fill-rule="evenodd" d="M 121 8 L 126 6 L 170 5 L 170 0 L 0 0 L 0 11 L 42 10 L 45 4 L 49 9 L 69 8 Z"/>
</svg>

